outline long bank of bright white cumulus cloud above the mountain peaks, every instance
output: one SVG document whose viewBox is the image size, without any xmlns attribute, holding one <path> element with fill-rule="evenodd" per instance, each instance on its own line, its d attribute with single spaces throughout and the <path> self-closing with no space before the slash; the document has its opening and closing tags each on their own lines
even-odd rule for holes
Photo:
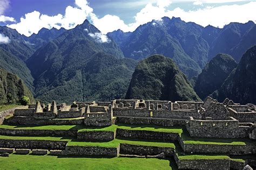
<svg viewBox="0 0 256 170">
<path fill-rule="evenodd" d="M 184 11 L 180 8 L 169 10 L 167 7 L 172 4 L 170 0 L 148 2 L 149 3 L 134 16 L 134 22 L 130 24 L 125 24 L 124 20 L 114 15 L 105 15 L 99 18 L 93 12 L 87 0 L 75 0 L 75 6 L 66 7 L 64 15 L 48 16 L 38 11 L 33 11 L 26 13 L 25 16 L 21 18 L 21 22 L 8 26 L 12 29 L 16 29 L 25 36 L 30 36 L 32 33 L 38 33 L 42 27 L 47 29 L 52 29 L 52 27 L 56 27 L 57 29 L 64 27 L 67 30 L 73 29 L 78 24 L 82 24 L 85 19 L 89 19 L 103 34 L 118 29 L 124 32 L 134 31 L 139 25 L 151 22 L 153 19 L 161 20 L 161 18 L 165 16 L 170 18 L 180 17 L 185 22 L 195 22 L 202 26 L 212 25 L 215 27 L 223 27 L 231 22 L 246 23 L 248 20 L 256 21 L 256 2 L 248 2 L 241 5 L 206 6 L 205 8 L 190 11 Z M 175 2 L 175 0 L 173 2 Z M 194 5 L 201 5 L 203 3 L 235 1 L 194 0 L 190 2 L 193 2 Z"/>
</svg>

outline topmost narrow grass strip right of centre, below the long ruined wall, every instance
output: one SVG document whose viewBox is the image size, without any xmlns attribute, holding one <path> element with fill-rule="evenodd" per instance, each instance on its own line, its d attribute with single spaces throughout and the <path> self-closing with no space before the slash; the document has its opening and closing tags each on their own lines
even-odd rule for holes
<svg viewBox="0 0 256 170">
<path fill-rule="evenodd" d="M 146 131 L 155 131 L 155 132 L 167 132 L 167 133 L 178 133 L 181 134 L 183 129 L 180 127 L 163 127 L 157 125 L 127 125 L 127 124 L 118 124 L 117 128 L 127 129 L 127 130 L 146 130 Z"/>
</svg>

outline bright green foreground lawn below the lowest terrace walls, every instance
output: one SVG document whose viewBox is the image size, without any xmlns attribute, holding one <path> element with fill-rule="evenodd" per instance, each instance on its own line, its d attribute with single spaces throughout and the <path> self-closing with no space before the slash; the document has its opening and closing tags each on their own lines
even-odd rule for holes
<svg viewBox="0 0 256 170">
<path fill-rule="evenodd" d="M 169 160 L 145 158 L 58 158 L 16 155 L 0 157 L 0 169 L 171 169 Z"/>
</svg>

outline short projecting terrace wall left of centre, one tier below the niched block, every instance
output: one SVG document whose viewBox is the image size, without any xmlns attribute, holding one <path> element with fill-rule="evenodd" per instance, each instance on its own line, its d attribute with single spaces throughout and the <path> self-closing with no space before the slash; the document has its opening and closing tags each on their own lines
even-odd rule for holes
<svg viewBox="0 0 256 170">
<path fill-rule="evenodd" d="M 110 141 L 116 136 L 116 132 L 111 131 L 83 131 L 77 133 L 77 139 L 85 141 Z"/>
</svg>

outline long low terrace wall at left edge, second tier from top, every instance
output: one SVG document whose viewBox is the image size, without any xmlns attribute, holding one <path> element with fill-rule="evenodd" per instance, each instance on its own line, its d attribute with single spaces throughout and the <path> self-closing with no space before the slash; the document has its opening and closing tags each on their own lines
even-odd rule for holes
<svg viewBox="0 0 256 170">
<path fill-rule="evenodd" d="M 1 135 L 10 136 L 65 136 L 77 137 L 77 130 L 35 130 L 35 129 L 3 129 Z"/>
</svg>

